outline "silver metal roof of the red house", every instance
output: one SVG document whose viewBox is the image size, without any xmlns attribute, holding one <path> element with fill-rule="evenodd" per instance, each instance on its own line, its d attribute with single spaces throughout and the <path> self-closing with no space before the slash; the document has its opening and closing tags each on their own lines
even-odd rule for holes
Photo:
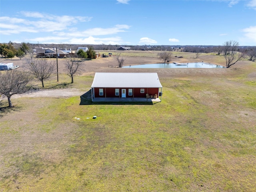
<svg viewBox="0 0 256 192">
<path fill-rule="evenodd" d="M 160 88 L 157 73 L 95 73 L 92 87 Z"/>
</svg>

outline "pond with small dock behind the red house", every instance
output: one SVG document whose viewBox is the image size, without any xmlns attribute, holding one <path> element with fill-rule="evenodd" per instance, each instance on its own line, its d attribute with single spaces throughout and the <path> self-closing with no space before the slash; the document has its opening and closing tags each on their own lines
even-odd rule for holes
<svg viewBox="0 0 256 192">
<path fill-rule="evenodd" d="M 224 66 L 215 65 L 206 62 L 195 63 L 155 63 L 155 64 L 142 64 L 123 66 L 122 68 L 225 68 Z"/>
</svg>

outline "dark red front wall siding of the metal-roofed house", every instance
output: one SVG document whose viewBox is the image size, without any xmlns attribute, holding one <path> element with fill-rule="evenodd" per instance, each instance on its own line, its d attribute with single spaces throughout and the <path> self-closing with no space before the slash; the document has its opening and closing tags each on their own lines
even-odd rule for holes
<svg viewBox="0 0 256 192">
<path fill-rule="evenodd" d="M 126 89 L 126 97 L 144 98 L 146 94 L 158 95 L 159 88 L 101 88 L 103 95 L 99 93 L 100 88 L 94 88 L 94 97 L 122 97 L 122 89 Z M 119 95 L 116 95 L 116 89 L 119 89 Z M 132 95 L 128 95 L 128 90 L 132 89 Z M 140 93 L 140 89 L 144 89 L 144 93 Z"/>
</svg>

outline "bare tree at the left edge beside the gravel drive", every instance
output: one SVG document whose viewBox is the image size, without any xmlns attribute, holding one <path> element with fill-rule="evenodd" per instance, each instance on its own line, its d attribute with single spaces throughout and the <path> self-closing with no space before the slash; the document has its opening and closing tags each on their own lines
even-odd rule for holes
<svg viewBox="0 0 256 192">
<path fill-rule="evenodd" d="M 28 86 L 31 77 L 26 72 L 18 70 L 6 71 L 0 73 L 0 94 L 8 98 L 9 107 L 13 107 L 11 96 L 22 94 L 30 90 Z"/>
</svg>

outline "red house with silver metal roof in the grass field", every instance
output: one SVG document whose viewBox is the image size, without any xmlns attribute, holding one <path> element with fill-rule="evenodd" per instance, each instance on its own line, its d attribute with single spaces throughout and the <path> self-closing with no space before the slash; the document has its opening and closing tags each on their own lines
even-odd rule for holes
<svg viewBox="0 0 256 192">
<path fill-rule="evenodd" d="M 92 101 L 97 98 L 156 99 L 159 96 L 162 96 L 162 85 L 157 73 L 96 72 L 92 82 Z"/>
</svg>

